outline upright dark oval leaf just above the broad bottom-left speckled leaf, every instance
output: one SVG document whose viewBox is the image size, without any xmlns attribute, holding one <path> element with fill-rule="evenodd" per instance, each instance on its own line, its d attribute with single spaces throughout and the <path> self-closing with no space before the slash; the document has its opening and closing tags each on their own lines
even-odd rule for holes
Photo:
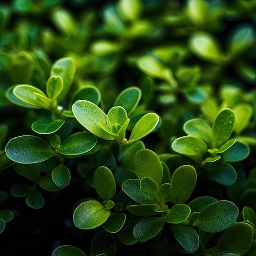
<svg viewBox="0 0 256 256">
<path fill-rule="evenodd" d="M 106 166 L 99 166 L 93 177 L 94 187 L 97 194 L 103 200 L 110 200 L 116 193 L 115 178 Z"/>
</svg>

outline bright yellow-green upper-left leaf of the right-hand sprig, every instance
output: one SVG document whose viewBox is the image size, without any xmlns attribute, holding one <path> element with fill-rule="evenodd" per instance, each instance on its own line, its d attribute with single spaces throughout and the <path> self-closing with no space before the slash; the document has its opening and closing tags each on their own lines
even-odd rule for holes
<svg viewBox="0 0 256 256">
<path fill-rule="evenodd" d="M 184 123 L 183 129 L 186 134 L 196 136 L 207 144 L 210 144 L 213 139 L 211 126 L 204 119 L 190 119 Z"/>
</svg>

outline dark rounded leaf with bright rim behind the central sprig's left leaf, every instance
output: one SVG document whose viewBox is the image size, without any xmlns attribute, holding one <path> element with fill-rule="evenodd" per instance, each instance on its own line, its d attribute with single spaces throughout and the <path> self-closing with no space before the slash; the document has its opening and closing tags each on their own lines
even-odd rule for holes
<svg viewBox="0 0 256 256">
<path fill-rule="evenodd" d="M 74 92 L 72 95 L 71 105 L 73 105 L 78 100 L 91 101 L 92 103 L 98 105 L 101 100 L 101 93 L 96 86 L 84 85 Z"/>
</svg>

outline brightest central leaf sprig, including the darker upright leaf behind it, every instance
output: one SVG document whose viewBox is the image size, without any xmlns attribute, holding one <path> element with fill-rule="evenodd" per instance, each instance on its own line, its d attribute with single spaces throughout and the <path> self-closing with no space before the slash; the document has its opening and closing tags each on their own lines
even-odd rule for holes
<svg viewBox="0 0 256 256">
<path fill-rule="evenodd" d="M 130 97 L 130 98 L 126 98 Z M 87 101 L 76 101 L 72 106 L 75 118 L 87 130 L 101 139 L 115 140 L 121 145 L 130 145 L 133 142 L 148 135 L 158 124 L 159 116 L 155 113 L 147 113 L 132 129 L 130 138 L 125 138 L 126 129 L 130 122 L 128 115 L 137 106 L 140 99 L 138 88 L 128 88 L 116 99 L 114 106 L 105 114 L 96 104 Z"/>
</svg>

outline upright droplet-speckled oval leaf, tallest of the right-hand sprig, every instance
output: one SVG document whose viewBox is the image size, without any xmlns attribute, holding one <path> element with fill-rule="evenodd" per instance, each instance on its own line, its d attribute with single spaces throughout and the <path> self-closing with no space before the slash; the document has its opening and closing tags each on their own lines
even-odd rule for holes
<svg viewBox="0 0 256 256">
<path fill-rule="evenodd" d="M 213 121 L 213 135 L 216 140 L 216 145 L 213 147 L 219 147 L 227 139 L 229 139 L 231 133 L 235 128 L 236 116 L 234 110 L 230 108 L 222 108 L 216 115 Z"/>
</svg>

